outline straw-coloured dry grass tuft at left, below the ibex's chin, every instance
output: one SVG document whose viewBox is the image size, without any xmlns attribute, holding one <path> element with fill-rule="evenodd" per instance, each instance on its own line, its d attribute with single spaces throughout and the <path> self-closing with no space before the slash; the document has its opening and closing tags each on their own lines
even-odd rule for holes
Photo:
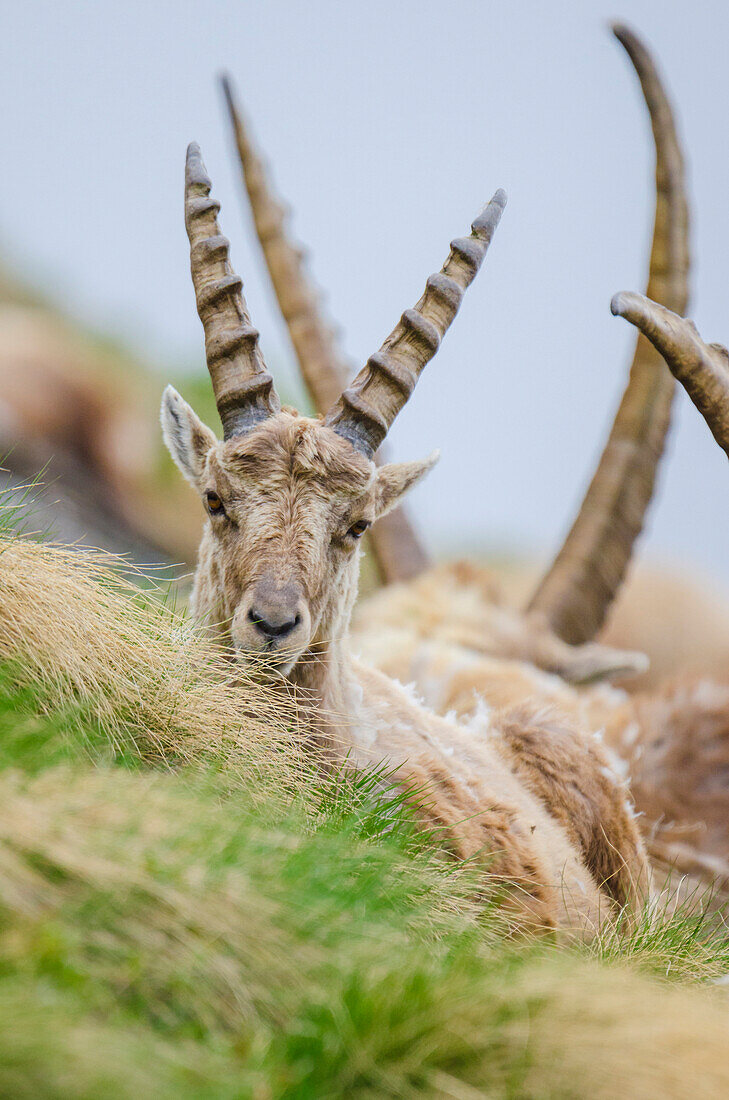
<svg viewBox="0 0 729 1100">
<path fill-rule="evenodd" d="M 48 715 L 109 750 L 214 763 L 246 793 L 303 792 L 294 706 L 246 679 L 186 616 L 100 551 L 0 537 L 0 661 Z M 139 580 L 139 579 L 137 579 Z M 70 719 L 69 719 L 70 722 Z M 73 723 L 71 723 L 73 725 Z"/>
</svg>

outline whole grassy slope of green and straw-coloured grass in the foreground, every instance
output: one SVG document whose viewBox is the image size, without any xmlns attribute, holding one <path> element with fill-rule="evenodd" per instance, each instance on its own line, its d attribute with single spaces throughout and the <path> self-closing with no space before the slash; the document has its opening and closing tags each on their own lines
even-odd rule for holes
<svg viewBox="0 0 729 1100">
<path fill-rule="evenodd" d="M 508 942 L 108 563 L 3 542 L 0 660 L 0 1094 L 728 1094 L 720 936 Z"/>
</svg>

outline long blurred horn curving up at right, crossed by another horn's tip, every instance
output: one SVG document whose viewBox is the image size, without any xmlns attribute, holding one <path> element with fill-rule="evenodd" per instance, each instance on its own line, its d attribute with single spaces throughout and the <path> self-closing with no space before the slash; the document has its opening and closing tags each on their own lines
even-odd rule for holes
<svg viewBox="0 0 729 1100">
<path fill-rule="evenodd" d="M 655 140 L 655 226 L 648 294 L 683 314 L 688 300 L 688 205 L 671 105 L 645 46 L 612 31 L 641 82 Z M 674 382 L 655 349 L 638 338 L 630 380 L 579 513 L 528 609 L 565 641 L 593 638 L 622 583 L 643 527 L 671 421 Z"/>
</svg>

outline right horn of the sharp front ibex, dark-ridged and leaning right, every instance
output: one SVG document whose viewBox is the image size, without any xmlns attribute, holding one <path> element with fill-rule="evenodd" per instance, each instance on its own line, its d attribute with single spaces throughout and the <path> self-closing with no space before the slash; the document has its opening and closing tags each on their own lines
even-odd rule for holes
<svg viewBox="0 0 729 1100">
<path fill-rule="evenodd" d="M 496 191 L 471 227 L 470 237 L 451 243 L 415 309 L 406 309 L 379 351 L 367 360 L 324 422 L 368 458 L 375 453 L 404 407 L 424 366 L 440 346 L 491 243 L 506 194 Z"/>
</svg>

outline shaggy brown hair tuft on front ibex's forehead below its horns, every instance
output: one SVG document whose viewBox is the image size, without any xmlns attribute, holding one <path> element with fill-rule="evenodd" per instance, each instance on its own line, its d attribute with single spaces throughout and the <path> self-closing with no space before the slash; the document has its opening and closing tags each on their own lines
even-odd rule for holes
<svg viewBox="0 0 729 1100">
<path fill-rule="evenodd" d="M 364 493 L 375 466 L 319 419 L 286 410 L 246 436 L 223 444 L 221 461 L 231 475 L 259 472 L 314 479 L 334 491 Z"/>
</svg>

